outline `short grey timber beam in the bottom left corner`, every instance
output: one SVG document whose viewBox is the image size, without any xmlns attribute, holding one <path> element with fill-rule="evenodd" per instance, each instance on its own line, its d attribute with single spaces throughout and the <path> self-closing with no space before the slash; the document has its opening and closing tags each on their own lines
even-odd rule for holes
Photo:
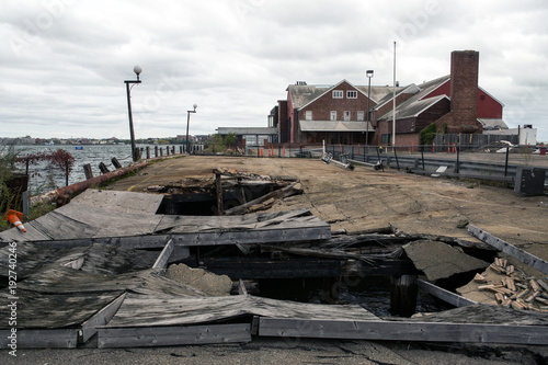
<svg viewBox="0 0 548 365">
<path fill-rule="evenodd" d="M 8 349 L 12 339 L 10 330 L 0 330 L 0 349 Z M 78 329 L 32 330 L 18 329 L 16 349 L 76 349 Z"/>
</svg>

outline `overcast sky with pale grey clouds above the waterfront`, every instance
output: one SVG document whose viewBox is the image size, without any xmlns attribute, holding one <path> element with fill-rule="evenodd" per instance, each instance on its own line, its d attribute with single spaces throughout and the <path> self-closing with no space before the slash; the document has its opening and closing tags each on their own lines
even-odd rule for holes
<svg viewBox="0 0 548 365">
<path fill-rule="evenodd" d="M 266 126 L 295 81 L 401 85 L 480 53 L 510 127 L 548 141 L 546 0 L 2 0 L 0 137 L 129 138 Z"/>
</svg>

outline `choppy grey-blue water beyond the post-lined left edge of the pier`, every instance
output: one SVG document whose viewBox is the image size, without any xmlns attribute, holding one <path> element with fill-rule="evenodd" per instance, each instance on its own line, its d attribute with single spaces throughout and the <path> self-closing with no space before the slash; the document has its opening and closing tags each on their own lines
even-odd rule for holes
<svg viewBox="0 0 548 365">
<path fill-rule="evenodd" d="M 137 147 L 146 147 L 137 146 Z M 80 149 L 81 148 L 81 149 Z M 93 175 L 99 176 L 101 170 L 99 163 L 103 162 L 109 170 L 115 170 L 111 160 L 115 157 L 123 167 L 132 162 L 132 146 L 129 145 L 84 145 L 84 146 L 15 146 L 19 157 L 27 155 L 56 151 L 64 149 L 75 158 L 72 171 L 69 173 L 69 185 L 85 180 L 83 166 L 90 163 Z M 18 163 L 20 172 L 25 172 L 25 163 Z M 49 192 L 66 185 L 65 171 L 58 167 L 52 167 L 48 161 L 39 161 L 28 166 L 28 191 L 31 195 Z"/>
</svg>

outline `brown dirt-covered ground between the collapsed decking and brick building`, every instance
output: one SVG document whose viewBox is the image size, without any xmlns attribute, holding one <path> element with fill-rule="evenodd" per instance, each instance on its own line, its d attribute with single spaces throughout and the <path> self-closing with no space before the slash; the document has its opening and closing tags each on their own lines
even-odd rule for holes
<svg viewBox="0 0 548 365">
<path fill-rule="evenodd" d="M 548 260 L 548 196 L 523 196 L 510 187 L 473 181 L 434 179 L 391 169 L 374 171 L 365 167 L 347 171 L 318 159 L 193 156 L 153 163 L 109 189 L 144 192 L 151 185 L 187 178 L 213 178 L 214 168 L 298 178 L 305 194 L 285 198 L 271 210 L 310 208 L 317 217 L 331 224 L 332 230 L 357 232 L 391 225 L 411 235 L 479 242 L 467 228 L 457 227 L 465 220 Z M 538 272 L 530 274 L 544 277 Z"/>
</svg>

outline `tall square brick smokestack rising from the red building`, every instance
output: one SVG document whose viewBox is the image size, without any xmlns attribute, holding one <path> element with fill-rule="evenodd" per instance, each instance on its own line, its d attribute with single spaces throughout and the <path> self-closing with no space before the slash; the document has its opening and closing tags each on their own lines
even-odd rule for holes
<svg viewBox="0 0 548 365">
<path fill-rule="evenodd" d="M 454 50 L 450 54 L 450 109 L 454 125 L 471 127 L 478 116 L 479 52 Z"/>
</svg>

